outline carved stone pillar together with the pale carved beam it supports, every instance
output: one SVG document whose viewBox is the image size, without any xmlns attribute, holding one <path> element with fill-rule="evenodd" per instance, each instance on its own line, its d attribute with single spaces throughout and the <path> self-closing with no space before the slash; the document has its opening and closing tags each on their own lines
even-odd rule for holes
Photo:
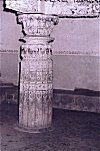
<svg viewBox="0 0 100 151">
<path fill-rule="evenodd" d="M 22 23 L 19 127 L 39 130 L 52 123 L 52 49 L 50 37 L 59 17 L 98 17 L 99 0 L 5 0 Z M 44 15 L 44 14 L 56 14 Z"/>
</svg>

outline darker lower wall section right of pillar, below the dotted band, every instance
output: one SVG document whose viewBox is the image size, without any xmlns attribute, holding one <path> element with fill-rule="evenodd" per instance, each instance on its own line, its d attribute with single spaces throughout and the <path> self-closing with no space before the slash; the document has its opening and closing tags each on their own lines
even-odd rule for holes
<svg viewBox="0 0 100 151">
<path fill-rule="evenodd" d="M 53 56 L 54 88 L 100 90 L 100 58 Z"/>
</svg>

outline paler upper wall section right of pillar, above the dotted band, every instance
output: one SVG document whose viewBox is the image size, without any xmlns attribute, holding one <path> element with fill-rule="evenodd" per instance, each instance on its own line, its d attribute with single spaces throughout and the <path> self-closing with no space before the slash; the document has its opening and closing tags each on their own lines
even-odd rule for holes
<svg viewBox="0 0 100 151">
<path fill-rule="evenodd" d="M 99 18 L 64 18 L 55 26 L 54 51 L 99 51 Z"/>
</svg>

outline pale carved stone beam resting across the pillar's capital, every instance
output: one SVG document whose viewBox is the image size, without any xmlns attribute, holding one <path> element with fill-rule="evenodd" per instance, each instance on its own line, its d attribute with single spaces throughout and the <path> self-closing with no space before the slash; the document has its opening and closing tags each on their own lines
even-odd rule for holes
<svg viewBox="0 0 100 151">
<path fill-rule="evenodd" d="M 98 16 L 99 0 L 6 0 L 6 8 L 22 13 L 59 16 Z"/>
</svg>

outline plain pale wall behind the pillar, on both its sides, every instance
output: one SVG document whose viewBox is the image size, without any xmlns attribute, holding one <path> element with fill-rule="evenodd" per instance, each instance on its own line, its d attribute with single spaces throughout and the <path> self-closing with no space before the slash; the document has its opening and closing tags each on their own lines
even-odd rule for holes
<svg viewBox="0 0 100 151">
<path fill-rule="evenodd" d="M 19 50 L 21 26 L 16 23 L 14 14 L 1 12 L 1 49 Z M 54 52 L 99 52 L 99 19 L 61 19 L 59 25 L 55 26 L 52 37 L 55 38 Z M 99 90 L 99 57 L 54 55 L 53 60 L 54 88 Z M 17 84 L 18 54 L 1 54 L 1 74 L 2 81 Z"/>
</svg>

